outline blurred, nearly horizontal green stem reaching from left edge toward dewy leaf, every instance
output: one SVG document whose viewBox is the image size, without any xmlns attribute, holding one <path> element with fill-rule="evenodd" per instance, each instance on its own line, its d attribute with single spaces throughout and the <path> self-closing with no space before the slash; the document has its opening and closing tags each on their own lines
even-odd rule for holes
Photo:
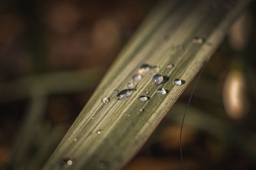
<svg viewBox="0 0 256 170">
<path fill-rule="evenodd" d="M 28 76 L 2 83 L 0 84 L 0 103 L 28 99 L 35 89 L 45 96 L 93 89 L 99 82 L 103 71 L 103 67 L 94 67 L 82 71 L 63 71 L 40 76 Z"/>
</svg>

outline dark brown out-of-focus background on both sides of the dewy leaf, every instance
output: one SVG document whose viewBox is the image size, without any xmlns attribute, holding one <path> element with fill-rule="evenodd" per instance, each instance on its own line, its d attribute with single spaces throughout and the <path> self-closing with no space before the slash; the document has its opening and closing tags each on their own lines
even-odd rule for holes
<svg viewBox="0 0 256 170">
<path fill-rule="evenodd" d="M 155 3 L 0 2 L 0 169 L 44 165 Z M 188 169 L 256 169 L 255 4 L 197 85 L 183 133 Z M 180 122 L 194 83 L 124 169 L 181 169 Z"/>
</svg>

